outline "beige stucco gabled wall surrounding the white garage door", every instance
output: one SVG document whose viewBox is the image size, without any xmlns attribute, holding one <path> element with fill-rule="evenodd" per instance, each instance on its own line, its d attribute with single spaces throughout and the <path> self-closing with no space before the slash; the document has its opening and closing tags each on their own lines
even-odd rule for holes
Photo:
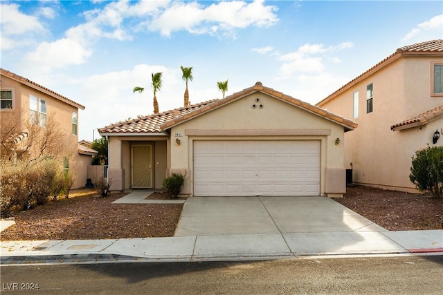
<svg viewBox="0 0 443 295">
<path fill-rule="evenodd" d="M 260 102 L 255 102 L 259 98 Z M 263 108 L 253 108 L 262 104 Z M 182 137 L 174 137 L 183 133 Z M 304 111 L 263 93 L 253 93 L 235 102 L 174 126 L 171 130 L 171 171 L 186 171 L 188 178 L 182 193 L 192 195 L 193 142 L 195 140 L 319 140 L 320 193 L 325 187 L 326 169 L 343 172 L 344 128 L 323 117 Z M 176 143 L 179 138 L 181 144 Z M 341 143 L 335 145 L 336 138 Z M 329 175 L 340 178 L 341 173 Z M 343 174 L 344 177 L 344 174 Z M 342 184 L 330 186 L 330 193 L 344 193 Z"/>
</svg>

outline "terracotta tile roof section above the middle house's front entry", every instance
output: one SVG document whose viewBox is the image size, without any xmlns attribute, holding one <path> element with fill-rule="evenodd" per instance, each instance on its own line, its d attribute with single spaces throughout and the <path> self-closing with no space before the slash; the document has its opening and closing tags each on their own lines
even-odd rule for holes
<svg viewBox="0 0 443 295">
<path fill-rule="evenodd" d="M 127 120 L 125 122 L 118 122 L 101 129 L 98 129 L 100 134 L 102 133 L 162 133 L 160 128 L 162 124 L 173 120 L 174 117 L 180 117 L 195 111 L 199 108 L 204 108 L 211 102 L 215 102 L 217 99 L 210 100 L 208 102 L 201 102 L 200 104 L 192 104 L 191 106 L 183 106 L 181 108 L 174 108 L 170 111 L 158 113 L 154 115 L 147 115 L 145 117 L 138 117 L 133 120 Z"/>
</svg>

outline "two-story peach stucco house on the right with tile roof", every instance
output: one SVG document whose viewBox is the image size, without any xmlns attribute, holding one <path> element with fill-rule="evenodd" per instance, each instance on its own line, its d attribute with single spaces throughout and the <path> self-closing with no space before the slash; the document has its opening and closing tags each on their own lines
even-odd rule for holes
<svg viewBox="0 0 443 295">
<path fill-rule="evenodd" d="M 415 191 L 411 158 L 443 145 L 443 40 L 398 48 L 316 105 L 359 124 L 345 133 L 353 182 Z"/>
</svg>

